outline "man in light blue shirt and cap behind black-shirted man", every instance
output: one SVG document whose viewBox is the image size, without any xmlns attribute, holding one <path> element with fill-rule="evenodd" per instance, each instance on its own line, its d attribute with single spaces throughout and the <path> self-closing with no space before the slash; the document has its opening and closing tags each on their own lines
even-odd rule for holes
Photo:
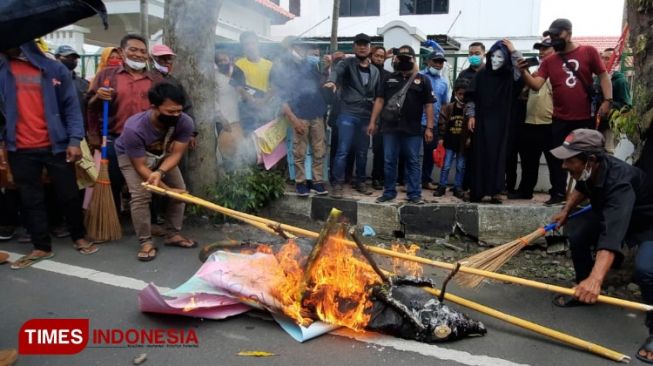
<svg viewBox="0 0 653 366">
<path fill-rule="evenodd" d="M 426 77 L 431 83 L 431 90 L 435 102 L 433 102 L 433 116 L 434 126 L 433 131 L 438 131 L 438 119 L 440 117 L 440 109 L 442 103 L 449 98 L 449 84 L 444 79 L 443 68 L 447 60 L 444 58 L 442 51 L 433 51 L 426 56 L 426 68 L 421 71 L 421 74 Z M 422 127 L 426 128 L 426 114 L 422 115 Z M 435 133 L 434 133 L 435 134 Z M 422 188 L 434 190 L 436 187 L 433 185 L 433 150 L 438 147 L 437 136 L 433 137 L 431 142 L 423 141 L 424 156 L 422 160 Z"/>
</svg>

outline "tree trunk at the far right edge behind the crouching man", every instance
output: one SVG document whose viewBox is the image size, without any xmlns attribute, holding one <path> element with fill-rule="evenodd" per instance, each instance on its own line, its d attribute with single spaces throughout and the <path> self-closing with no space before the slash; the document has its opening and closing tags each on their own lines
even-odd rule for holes
<svg viewBox="0 0 653 366">
<path fill-rule="evenodd" d="M 629 43 L 633 50 L 633 112 L 638 125 L 638 136 L 631 136 L 635 144 L 634 157 L 641 157 L 639 164 L 653 174 L 653 1 L 627 0 L 627 19 L 630 27 Z"/>
</svg>

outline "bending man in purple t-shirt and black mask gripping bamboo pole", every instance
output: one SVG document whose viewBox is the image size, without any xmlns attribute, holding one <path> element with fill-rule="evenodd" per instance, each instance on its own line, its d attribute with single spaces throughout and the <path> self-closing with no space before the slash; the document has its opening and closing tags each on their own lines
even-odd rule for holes
<svg viewBox="0 0 653 366">
<path fill-rule="evenodd" d="M 185 100 L 181 89 L 168 82 L 158 83 L 148 91 L 148 100 L 150 109 L 129 117 L 115 144 L 120 170 L 131 194 L 131 218 L 141 246 L 138 260 L 144 262 L 156 257 L 157 248 L 150 223 L 152 194 L 141 183 L 185 190 L 179 162 L 193 135 L 193 120 L 182 112 Z M 184 207 L 181 201 L 168 202 L 165 245 L 197 246 L 180 234 Z"/>
</svg>

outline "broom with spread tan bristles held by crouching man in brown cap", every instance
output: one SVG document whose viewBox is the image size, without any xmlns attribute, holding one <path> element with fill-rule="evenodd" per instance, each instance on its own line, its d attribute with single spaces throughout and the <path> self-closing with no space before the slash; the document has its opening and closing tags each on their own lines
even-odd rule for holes
<svg viewBox="0 0 653 366">
<path fill-rule="evenodd" d="M 583 207 L 582 209 L 569 215 L 569 218 L 572 219 L 591 209 L 592 209 L 592 205 Z M 484 271 L 489 271 L 489 272 L 496 272 L 499 268 L 501 268 L 501 266 L 503 266 L 506 262 L 508 262 L 510 258 L 514 257 L 517 253 L 519 253 L 520 250 L 522 250 L 524 247 L 531 244 L 535 240 L 543 237 L 547 232 L 555 229 L 556 226 L 557 223 L 555 222 L 550 223 L 546 226 L 538 228 L 537 230 L 533 231 L 528 235 L 522 236 L 519 239 L 513 240 L 503 245 L 499 245 L 492 249 L 482 251 L 467 259 L 463 259 L 460 261 L 460 263 L 467 267 L 482 269 Z M 456 282 L 458 282 L 458 284 L 463 287 L 473 288 L 473 287 L 477 287 L 479 284 L 481 284 L 481 282 L 483 282 L 483 277 L 469 275 L 469 274 L 460 274 L 456 278 Z"/>
</svg>

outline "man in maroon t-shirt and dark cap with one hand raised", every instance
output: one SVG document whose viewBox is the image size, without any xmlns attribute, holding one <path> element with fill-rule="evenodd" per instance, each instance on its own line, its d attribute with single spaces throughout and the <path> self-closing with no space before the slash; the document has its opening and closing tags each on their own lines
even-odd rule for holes
<svg viewBox="0 0 653 366">
<path fill-rule="evenodd" d="M 592 46 L 572 42 L 571 22 L 568 19 L 556 19 L 545 37 L 551 37 L 555 54 L 542 60 L 537 73 L 528 72 L 525 60 L 519 62 L 522 77 L 526 85 L 540 90 L 547 79 L 553 89 L 553 123 L 552 145 L 559 146 L 571 131 L 578 128 L 594 128 L 592 118 L 592 75 L 598 75 L 603 101 L 598 114 L 603 116 L 612 104 L 612 84 L 601 61 L 599 52 Z M 562 161 L 551 165 L 551 199 L 546 204 L 558 204 L 565 201 L 567 173 L 562 169 Z"/>
</svg>

